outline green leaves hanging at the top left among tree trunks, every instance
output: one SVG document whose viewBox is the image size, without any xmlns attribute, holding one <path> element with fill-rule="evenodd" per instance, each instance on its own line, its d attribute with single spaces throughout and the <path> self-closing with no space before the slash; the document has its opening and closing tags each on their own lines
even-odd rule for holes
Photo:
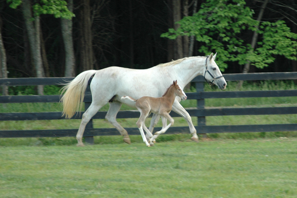
<svg viewBox="0 0 297 198">
<path fill-rule="evenodd" d="M 22 0 L 7 0 L 6 2 L 10 3 L 9 7 L 16 9 L 22 3 Z M 52 14 L 55 18 L 65 19 L 71 19 L 75 16 L 69 11 L 65 0 L 40 0 L 32 7 L 35 16 Z"/>
</svg>

